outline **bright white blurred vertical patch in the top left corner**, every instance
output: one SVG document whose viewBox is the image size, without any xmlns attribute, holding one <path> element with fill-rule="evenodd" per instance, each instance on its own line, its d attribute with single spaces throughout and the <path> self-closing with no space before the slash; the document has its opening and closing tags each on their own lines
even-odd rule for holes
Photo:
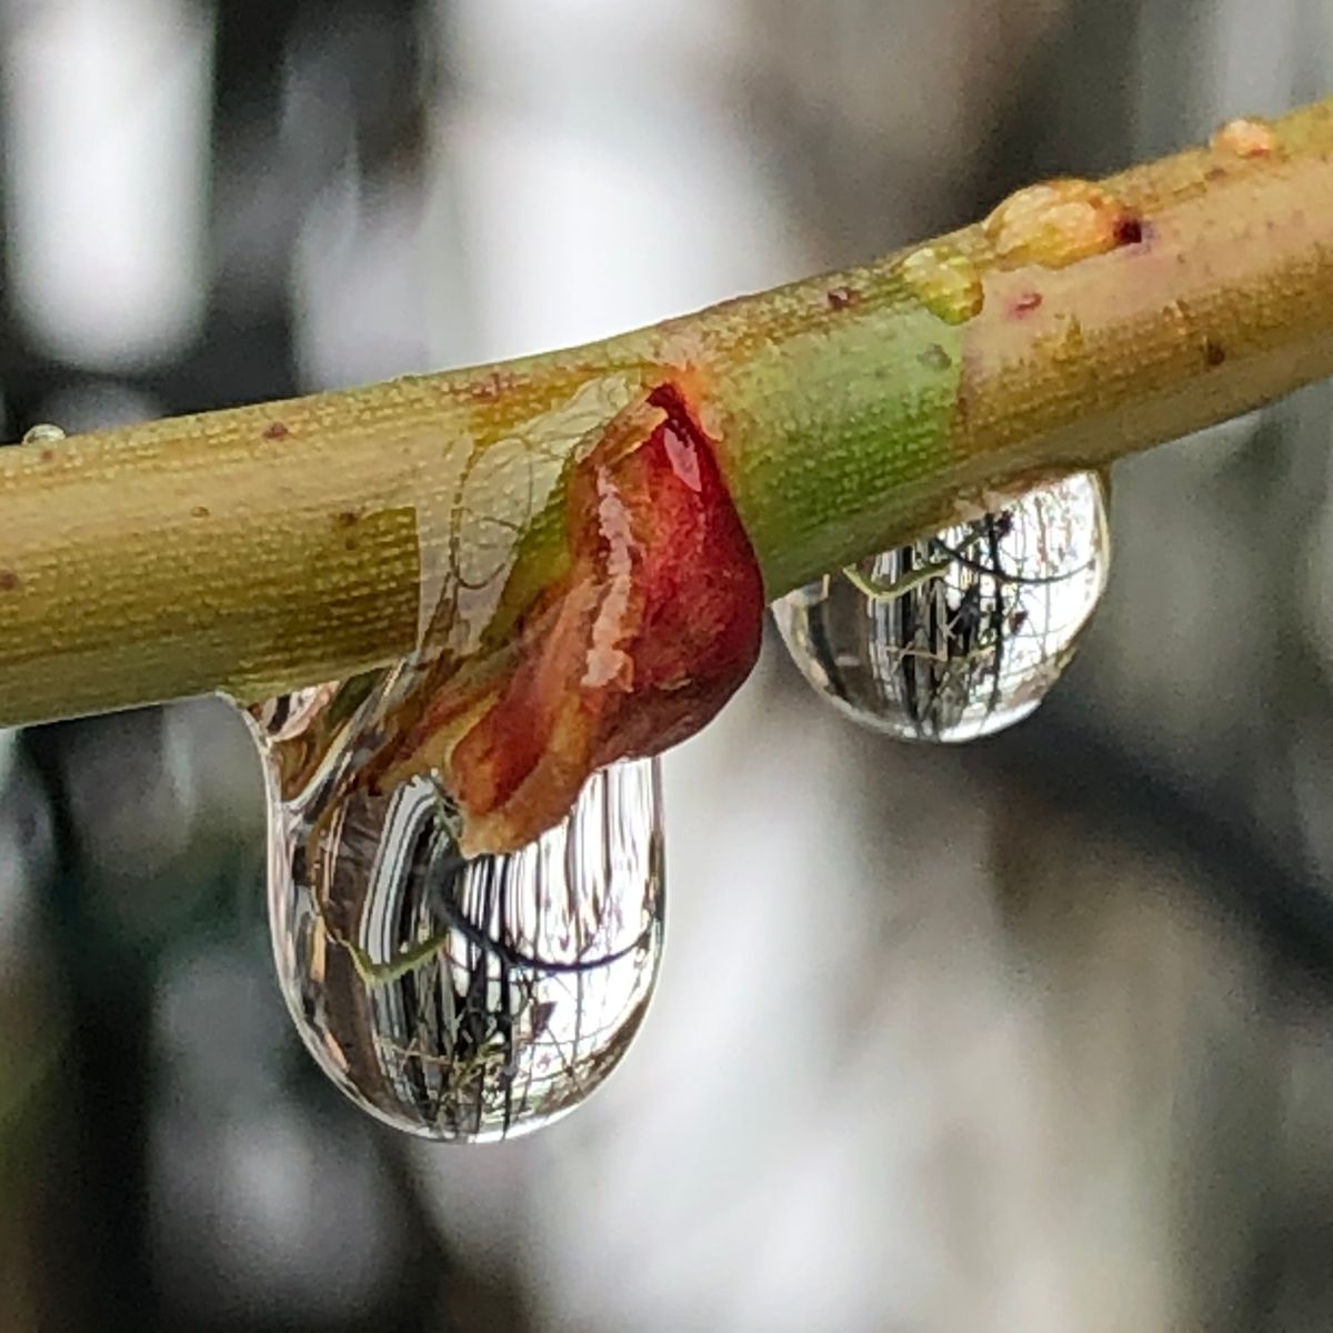
<svg viewBox="0 0 1333 1333">
<path fill-rule="evenodd" d="M 8 277 L 33 339 L 105 369 L 199 329 L 212 7 L 20 0 L 0 13 Z"/>
</svg>

